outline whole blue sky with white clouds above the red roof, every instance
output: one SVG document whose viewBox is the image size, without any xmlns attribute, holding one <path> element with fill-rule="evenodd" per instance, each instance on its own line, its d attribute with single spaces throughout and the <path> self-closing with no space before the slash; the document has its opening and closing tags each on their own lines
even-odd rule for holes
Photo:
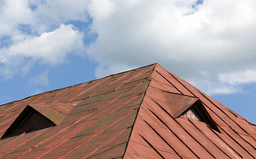
<svg viewBox="0 0 256 159">
<path fill-rule="evenodd" d="M 158 62 L 256 123 L 255 0 L 1 0 L 0 105 Z"/>
</svg>

